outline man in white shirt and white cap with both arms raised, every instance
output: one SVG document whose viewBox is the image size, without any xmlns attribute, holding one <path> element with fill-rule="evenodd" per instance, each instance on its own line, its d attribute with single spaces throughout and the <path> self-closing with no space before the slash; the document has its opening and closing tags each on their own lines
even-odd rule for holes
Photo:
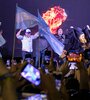
<svg viewBox="0 0 90 100">
<path fill-rule="evenodd" d="M 17 32 L 16 37 L 22 42 L 22 58 L 25 60 L 25 55 L 30 54 L 32 56 L 33 39 L 39 37 L 39 32 L 35 33 L 34 35 L 31 35 L 30 29 L 26 29 L 25 35 L 21 35 L 21 32 L 22 29 Z"/>
</svg>

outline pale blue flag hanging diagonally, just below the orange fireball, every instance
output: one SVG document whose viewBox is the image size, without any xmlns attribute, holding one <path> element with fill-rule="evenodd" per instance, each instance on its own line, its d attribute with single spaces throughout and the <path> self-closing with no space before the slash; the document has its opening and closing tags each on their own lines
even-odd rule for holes
<svg viewBox="0 0 90 100">
<path fill-rule="evenodd" d="M 38 11 L 38 20 L 39 20 L 39 31 L 46 38 L 54 52 L 58 55 L 61 55 L 64 49 L 64 45 L 50 32 L 50 29 L 46 22 L 41 17 Z"/>
</svg>

